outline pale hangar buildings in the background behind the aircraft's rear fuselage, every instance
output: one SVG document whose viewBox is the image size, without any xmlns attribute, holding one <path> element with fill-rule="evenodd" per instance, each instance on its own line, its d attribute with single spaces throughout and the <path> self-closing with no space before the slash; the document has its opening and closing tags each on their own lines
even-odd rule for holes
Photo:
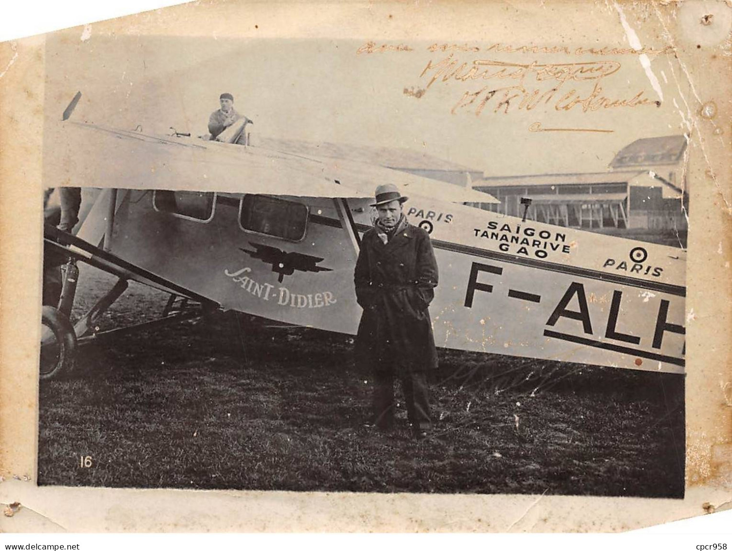
<svg viewBox="0 0 732 551">
<path fill-rule="evenodd" d="M 487 177 L 473 187 L 500 204 L 486 210 L 584 229 L 687 230 L 685 136 L 642 138 L 621 149 L 608 171 Z"/>
</svg>

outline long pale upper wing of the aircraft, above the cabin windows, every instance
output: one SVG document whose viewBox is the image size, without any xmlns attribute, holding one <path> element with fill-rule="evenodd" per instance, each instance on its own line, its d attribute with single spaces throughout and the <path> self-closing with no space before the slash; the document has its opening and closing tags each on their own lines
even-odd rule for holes
<svg viewBox="0 0 732 551">
<path fill-rule="evenodd" d="M 152 136 L 83 122 L 49 125 L 48 187 L 206 189 L 310 197 L 373 197 L 391 182 L 407 196 L 497 202 L 488 193 L 351 160 L 292 155 L 177 136 Z"/>
</svg>

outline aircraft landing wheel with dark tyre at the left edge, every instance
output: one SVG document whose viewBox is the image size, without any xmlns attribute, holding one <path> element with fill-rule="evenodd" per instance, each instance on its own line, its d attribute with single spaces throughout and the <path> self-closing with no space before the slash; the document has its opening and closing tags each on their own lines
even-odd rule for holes
<svg viewBox="0 0 732 551">
<path fill-rule="evenodd" d="M 76 357 L 76 333 L 69 319 L 53 306 L 43 306 L 41 314 L 41 380 L 69 374 Z"/>
</svg>

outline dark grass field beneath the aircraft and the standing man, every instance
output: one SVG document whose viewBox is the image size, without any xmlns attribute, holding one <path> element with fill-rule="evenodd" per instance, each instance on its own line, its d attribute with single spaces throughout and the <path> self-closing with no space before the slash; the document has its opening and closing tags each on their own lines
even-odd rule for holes
<svg viewBox="0 0 732 551">
<path fill-rule="evenodd" d="M 83 270 L 80 309 L 109 284 Z M 101 325 L 164 301 L 131 284 Z M 41 385 L 38 481 L 683 496 L 683 376 L 439 350 L 436 429 L 417 442 L 403 404 L 394 432 L 364 426 L 352 347 L 223 314 L 85 347 L 73 377 Z"/>
</svg>

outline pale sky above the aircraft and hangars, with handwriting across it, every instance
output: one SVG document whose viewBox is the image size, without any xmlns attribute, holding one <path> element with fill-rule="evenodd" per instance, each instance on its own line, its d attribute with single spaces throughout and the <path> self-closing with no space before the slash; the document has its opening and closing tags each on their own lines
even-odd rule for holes
<svg viewBox="0 0 732 551">
<path fill-rule="evenodd" d="M 618 29 L 613 41 L 569 42 L 570 48 L 627 48 L 627 38 Z M 171 133 L 174 127 L 198 135 L 206 132 L 220 93 L 230 92 L 235 108 L 255 122 L 254 144 L 257 136 L 266 136 L 407 147 L 485 171 L 487 176 L 605 171 L 616 152 L 635 139 L 687 130 L 679 112 L 684 110 L 681 93 L 688 95 L 688 90 L 676 84 L 673 75 L 680 73 L 679 68 L 665 53 L 649 59 L 658 83 L 654 89 L 637 55 L 453 52 L 460 63 L 482 59 L 523 65 L 617 65 L 600 80 L 561 83 L 552 101 L 531 111 L 514 103 L 508 113 L 494 112 L 502 93 L 498 92 L 477 116 L 474 108 L 451 110 L 466 92 L 484 86 L 490 90 L 523 84 L 543 93 L 560 83 L 550 78 L 539 81 L 534 70 L 523 81 L 438 79 L 427 87 L 429 75 L 420 76 L 422 70 L 449 52 L 428 51 L 434 41 L 424 38 L 389 41 L 404 43 L 411 51 L 359 54 L 365 40 L 110 35 L 97 34 L 93 27 L 80 34 L 80 30 L 56 34 L 47 42 L 46 111 L 51 117 L 60 114 L 80 90 L 83 96 L 74 119 L 127 129 L 141 125 L 146 133 Z M 494 42 L 469 44 L 487 48 Z M 554 107 L 572 89 L 580 97 L 588 96 L 595 83 L 602 87 L 602 95 L 612 99 L 630 100 L 643 92 L 660 106 L 589 112 L 581 106 L 569 111 Z M 612 131 L 529 130 L 537 124 Z"/>
</svg>

